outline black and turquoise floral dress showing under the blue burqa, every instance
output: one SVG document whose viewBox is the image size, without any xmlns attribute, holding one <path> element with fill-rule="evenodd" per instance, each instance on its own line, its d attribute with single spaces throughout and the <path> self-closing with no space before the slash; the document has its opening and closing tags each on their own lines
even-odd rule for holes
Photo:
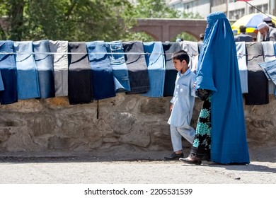
<svg viewBox="0 0 276 198">
<path fill-rule="evenodd" d="M 211 94 L 210 94 L 211 95 Z M 190 156 L 209 161 L 211 149 L 211 96 L 203 102 Z"/>
</svg>

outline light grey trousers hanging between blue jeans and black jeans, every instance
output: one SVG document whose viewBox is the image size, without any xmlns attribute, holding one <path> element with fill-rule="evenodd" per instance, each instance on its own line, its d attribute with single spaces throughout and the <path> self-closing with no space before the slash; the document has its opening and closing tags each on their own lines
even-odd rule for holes
<svg viewBox="0 0 276 198">
<path fill-rule="evenodd" d="M 54 53 L 54 91 L 55 96 L 68 95 L 68 41 L 50 40 L 50 52 Z"/>
</svg>

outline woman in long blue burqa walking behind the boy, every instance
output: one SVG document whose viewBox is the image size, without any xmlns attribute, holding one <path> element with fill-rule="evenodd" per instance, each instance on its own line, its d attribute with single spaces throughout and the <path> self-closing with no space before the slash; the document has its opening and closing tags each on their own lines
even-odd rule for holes
<svg viewBox="0 0 276 198">
<path fill-rule="evenodd" d="M 190 155 L 180 161 L 250 163 L 236 44 L 229 21 L 222 12 L 207 16 L 195 89 L 204 102 Z"/>
</svg>

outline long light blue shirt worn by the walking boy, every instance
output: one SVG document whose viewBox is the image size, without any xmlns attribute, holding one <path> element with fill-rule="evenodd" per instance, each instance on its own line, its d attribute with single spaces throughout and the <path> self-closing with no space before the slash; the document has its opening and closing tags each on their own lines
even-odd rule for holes
<svg viewBox="0 0 276 198">
<path fill-rule="evenodd" d="M 195 74 L 188 69 L 185 74 L 178 72 L 176 76 L 176 83 L 171 103 L 173 103 L 173 110 L 168 119 L 168 124 L 175 127 L 180 127 L 184 122 L 190 124 L 192 119 L 192 109 L 195 104 Z"/>
</svg>

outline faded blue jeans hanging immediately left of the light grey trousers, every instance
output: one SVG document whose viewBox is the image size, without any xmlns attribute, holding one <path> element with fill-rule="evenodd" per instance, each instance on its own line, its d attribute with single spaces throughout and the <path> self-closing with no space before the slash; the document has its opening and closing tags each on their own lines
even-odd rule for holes
<svg viewBox="0 0 276 198">
<path fill-rule="evenodd" d="M 38 81 L 40 85 L 40 98 L 54 97 L 54 65 L 50 52 L 49 40 L 33 42 L 35 52 L 35 64 L 38 69 Z"/>
</svg>

